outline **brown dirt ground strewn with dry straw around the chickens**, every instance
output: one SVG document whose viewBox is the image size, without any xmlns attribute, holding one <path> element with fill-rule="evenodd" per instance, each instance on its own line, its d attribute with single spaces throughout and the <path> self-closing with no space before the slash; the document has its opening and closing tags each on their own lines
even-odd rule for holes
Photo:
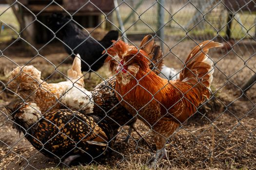
<svg viewBox="0 0 256 170">
<path fill-rule="evenodd" d="M 182 61 L 185 61 L 190 50 L 196 46 L 195 42 L 185 39 L 177 46 L 177 41 L 172 38 L 167 42 L 168 46 L 173 48 L 165 47 L 165 64 L 181 69 Z M 197 40 L 197 43 L 199 42 L 200 40 Z M 139 41 L 134 43 L 138 45 Z M 3 106 L 9 104 L 15 96 L 5 85 L 8 73 L 17 64 L 21 66 L 28 62 L 42 72 L 42 78 L 47 79 L 47 82 L 62 81 L 64 77 L 56 70 L 66 74 L 72 59 L 65 60 L 68 54 L 58 42 L 46 45 L 35 57 L 21 47 L 20 42 L 9 46 L 10 44 L 0 44 L 0 50 L 3 52 L 0 56 L 0 169 L 34 170 L 56 167 L 58 160 L 52 160 L 39 153 L 22 133 L 19 135 L 12 129 L 12 122 L 8 120 Z M 38 45 L 36 48 L 41 47 L 42 45 Z M 243 40 L 228 54 L 218 53 L 217 50 L 210 52 L 209 56 L 216 63 L 212 85 L 214 95 L 170 138 L 169 161 L 162 160 L 159 167 L 185 170 L 256 169 L 256 85 L 252 86 L 245 96 L 241 96 L 239 89 L 256 71 L 255 47 L 254 41 Z M 55 73 L 52 74 L 53 72 Z M 100 68 L 98 74 L 103 78 L 111 75 L 106 66 Z M 88 90 L 101 81 L 96 74 L 92 76 L 92 79 L 85 82 Z M 150 130 L 140 121 L 136 123 L 136 127 L 155 149 Z M 122 140 L 127 131 L 128 127 L 124 126 L 117 140 Z M 104 169 L 126 169 L 135 164 L 142 167 L 147 165 L 153 153 L 145 142 L 137 142 L 138 139 L 140 137 L 133 132 L 129 144 L 117 142 L 113 153 L 97 162 L 103 165 Z M 101 168 L 96 166 L 94 169 Z"/>
</svg>

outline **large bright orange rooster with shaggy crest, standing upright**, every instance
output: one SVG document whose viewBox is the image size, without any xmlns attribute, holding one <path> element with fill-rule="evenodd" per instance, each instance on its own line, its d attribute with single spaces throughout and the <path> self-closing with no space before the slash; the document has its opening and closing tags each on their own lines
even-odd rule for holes
<svg viewBox="0 0 256 170">
<path fill-rule="evenodd" d="M 166 156 L 166 140 L 178 126 L 196 113 L 200 103 L 210 97 L 213 61 L 209 49 L 220 47 L 214 41 L 204 41 L 189 54 L 176 81 L 166 80 L 153 72 L 148 55 L 123 41 L 113 41 L 107 50 L 106 63 L 116 74 L 118 101 L 133 115 L 153 129 L 157 161 Z"/>
</svg>

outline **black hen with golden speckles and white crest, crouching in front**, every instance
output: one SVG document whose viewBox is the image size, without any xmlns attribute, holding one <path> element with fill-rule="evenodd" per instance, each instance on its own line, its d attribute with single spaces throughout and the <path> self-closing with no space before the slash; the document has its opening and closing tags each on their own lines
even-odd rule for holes
<svg viewBox="0 0 256 170">
<path fill-rule="evenodd" d="M 44 113 L 36 103 L 19 103 L 13 109 L 13 128 L 23 133 L 40 153 L 58 158 L 69 166 L 79 157 L 87 163 L 106 154 L 114 140 L 112 128 L 95 115 L 84 115 L 70 109 Z"/>
</svg>

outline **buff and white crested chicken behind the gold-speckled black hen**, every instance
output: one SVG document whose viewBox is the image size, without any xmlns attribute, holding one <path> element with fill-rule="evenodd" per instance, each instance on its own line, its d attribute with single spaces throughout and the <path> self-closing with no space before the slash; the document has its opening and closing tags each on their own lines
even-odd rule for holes
<svg viewBox="0 0 256 170">
<path fill-rule="evenodd" d="M 92 95 L 84 89 L 79 54 L 68 70 L 67 81 L 48 84 L 41 80 L 41 72 L 34 66 L 14 68 L 10 73 L 8 87 L 22 99 L 37 103 L 42 112 L 59 109 L 62 105 L 70 109 L 93 111 Z M 58 102 L 59 101 L 59 102 Z"/>
</svg>

